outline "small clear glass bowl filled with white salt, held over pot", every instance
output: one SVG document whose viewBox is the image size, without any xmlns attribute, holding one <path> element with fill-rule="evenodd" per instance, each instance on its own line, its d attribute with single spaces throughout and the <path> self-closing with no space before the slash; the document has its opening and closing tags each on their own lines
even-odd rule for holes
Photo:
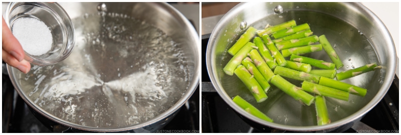
<svg viewBox="0 0 401 135">
<path fill-rule="evenodd" d="M 55 64 L 73 50 L 74 26 L 56 2 L 10 2 L 4 19 L 33 64 Z"/>
</svg>

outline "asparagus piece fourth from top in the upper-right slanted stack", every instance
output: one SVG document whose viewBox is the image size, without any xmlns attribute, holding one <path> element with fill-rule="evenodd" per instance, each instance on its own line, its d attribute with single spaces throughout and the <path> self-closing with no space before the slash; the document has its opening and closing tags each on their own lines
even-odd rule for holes
<svg viewBox="0 0 401 135">
<path fill-rule="evenodd" d="M 277 46 L 277 49 L 282 50 L 282 49 L 309 45 L 309 44 L 315 43 L 317 41 L 319 41 L 319 37 L 317 37 L 316 35 L 311 35 L 311 36 L 304 37 L 304 38 L 291 39 L 291 40 L 277 42 L 276 46 Z"/>
</svg>

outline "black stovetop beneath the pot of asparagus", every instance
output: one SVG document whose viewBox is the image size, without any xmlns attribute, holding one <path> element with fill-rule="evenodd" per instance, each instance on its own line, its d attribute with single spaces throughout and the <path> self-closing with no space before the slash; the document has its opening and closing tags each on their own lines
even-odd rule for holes
<svg viewBox="0 0 401 135">
<path fill-rule="evenodd" d="M 242 119 L 214 90 L 206 66 L 206 49 L 209 38 L 202 39 L 202 132 L 293 132 L 266 127 L 253 128 Z M 394 80 L 383 99 L 368 111 L 358 123 L 342 132 L 369 130 L 398 132 L 398 77 Z"/>
</svg>

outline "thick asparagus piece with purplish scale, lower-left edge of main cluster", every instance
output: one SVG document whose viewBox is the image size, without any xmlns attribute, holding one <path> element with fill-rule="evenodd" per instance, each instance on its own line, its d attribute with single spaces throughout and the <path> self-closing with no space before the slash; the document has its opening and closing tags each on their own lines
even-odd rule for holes
<svg viewBox="0 0 401 135">
<path fill-rule="evenodd" d="M 256 99 L 256 102 L 263 102 L 267 99 L 267 95 L 262 89 L 262 86 L 259 85 L 258 81 L 256 81 L 253 75 L 248 72 L 244 65 L 238 65 L 234 72 L 251 91 L 252 95 Z"/>
</svg>

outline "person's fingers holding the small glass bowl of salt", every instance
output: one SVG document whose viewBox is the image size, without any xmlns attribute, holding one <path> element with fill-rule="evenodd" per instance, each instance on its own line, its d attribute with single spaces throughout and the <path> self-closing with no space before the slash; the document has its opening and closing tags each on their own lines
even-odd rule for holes
<svg viewBox="0 0 401 135">
<path fill-rule="evenodd" d="M 6 21 L 3 17 L 2 19 L 2 58 L 9 65 L 16 67 L 24 73 L 28 73 L 28 71 L 31 69 L 31 63 L 24 59 L 24 49 L 22 48 L 17 38 L 11 32 L 9 26 L 7 26 Z"/>
</svg>

